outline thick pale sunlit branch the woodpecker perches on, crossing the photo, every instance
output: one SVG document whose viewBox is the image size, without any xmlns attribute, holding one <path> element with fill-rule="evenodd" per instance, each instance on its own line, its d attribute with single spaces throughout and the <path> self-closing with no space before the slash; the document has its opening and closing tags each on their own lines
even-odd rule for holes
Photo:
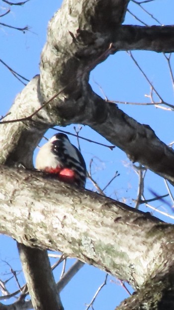
<svg viewBox="0 0 174 310">
<path fill-rule="evenodd" d="M 134 287 L 173 266 L 172 225 L 38 172 L 1 166 L 0 176 L 0 232 L 18 242 L 75 256 Z"/>
</svg>

